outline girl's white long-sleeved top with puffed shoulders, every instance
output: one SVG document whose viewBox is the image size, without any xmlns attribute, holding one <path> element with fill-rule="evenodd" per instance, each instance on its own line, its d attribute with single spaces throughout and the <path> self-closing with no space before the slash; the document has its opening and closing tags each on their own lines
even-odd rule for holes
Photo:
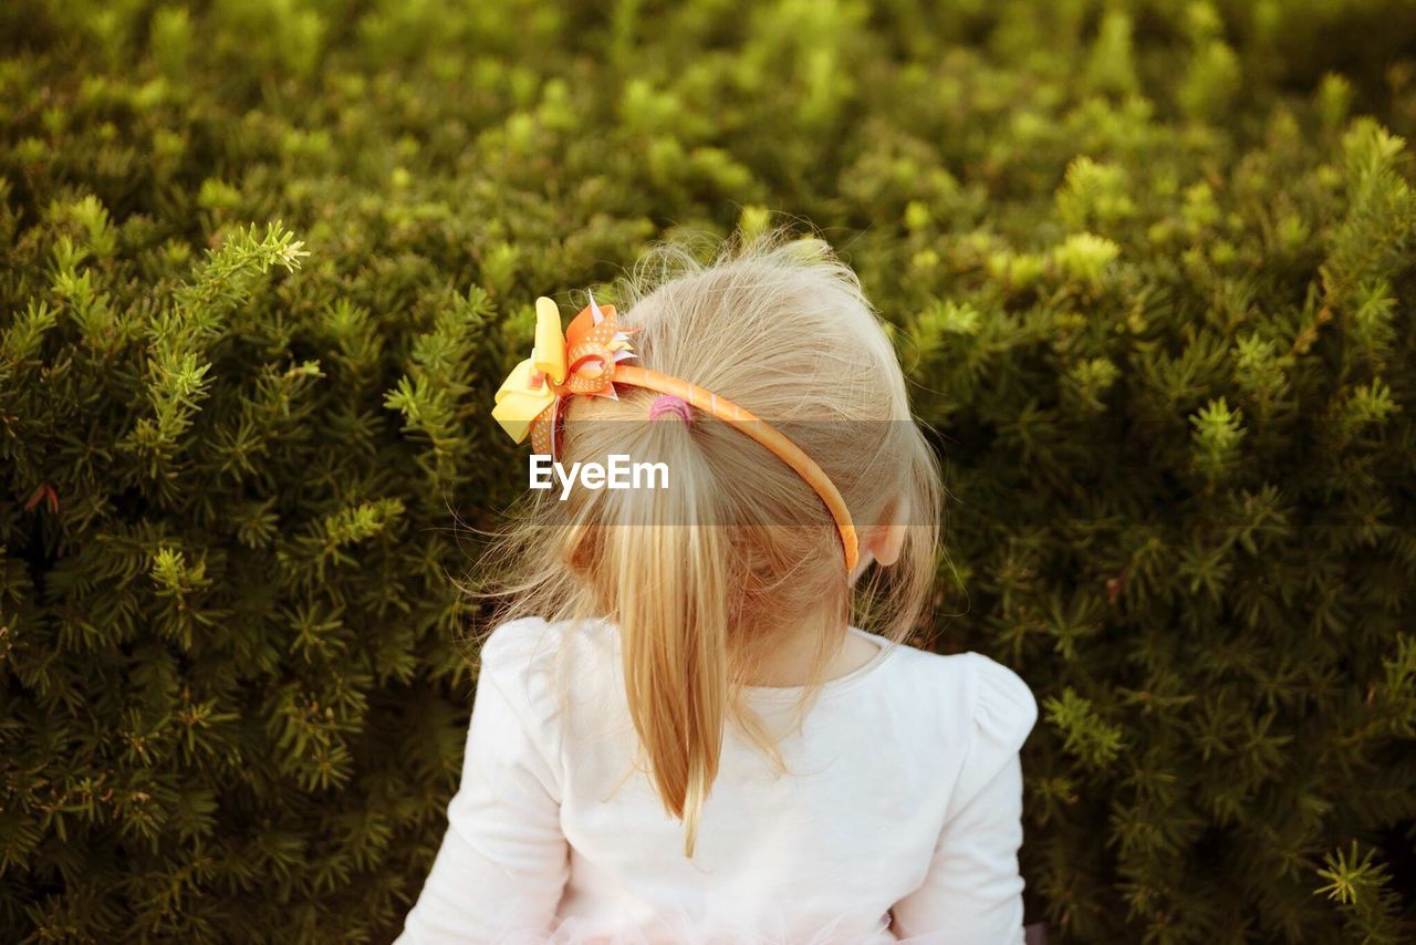
<svg viewBox="0 0 1416 945">
<path fill-rule="evenodd" d="M 632 768 L 616 628 L 498 626 L 398 942 L 1022 942 L 1032 693 L 980 653 L 851 632 L 881 649 L 782 740 L 786 775 L 728 728 L 687 859 L 683 823 Z M 767 721 L 797 696 L 748 690 Z"/>
</svg>

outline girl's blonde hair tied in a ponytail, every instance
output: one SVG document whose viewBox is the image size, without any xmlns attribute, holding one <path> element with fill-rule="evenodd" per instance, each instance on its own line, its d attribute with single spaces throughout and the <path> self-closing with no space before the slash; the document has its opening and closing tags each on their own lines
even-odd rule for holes
<svg viewBox="0 0 1416 945">
<path fill-rule="evenodd" d="M 782 429 L 840 489 L 862 543 L 877 523 L 910 523 L 896 564 L 852 582 L 820 496 L 743 432 L 697 411 L 691 424 L 650 421 L 656 394 L 639 388 L 569 400 L 561 462 L 663 462 L 668 487 L 531 493 L 486 558 L 507 570 L 479 594 L 501 598 L 489 626 L 531 615 L 617 625 L 636 764 L 683 819 L 692 856 L 725 724 L 782 769 L 742 698 L 777 628 L 823 616 L 800 723 L 847 622 L 895 642 L 916 626 L 935 577 L 939 469 L 889 339 L 824 241 L 770 231 L 724 242 L 708 264 L 660 244 L 616 289 L 637 363 Z"/>
</svg>

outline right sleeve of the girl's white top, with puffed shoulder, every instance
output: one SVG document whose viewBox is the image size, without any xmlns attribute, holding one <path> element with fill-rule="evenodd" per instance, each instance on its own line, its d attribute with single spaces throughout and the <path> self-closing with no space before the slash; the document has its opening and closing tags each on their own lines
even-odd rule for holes
<svg viewBox="0 0 1416 945">
<path fill-rule="evenodd" d="M 1022 762 L 1038 718 L 1028 684 L 969 653 L 974 686 L 970 745 L 923 884 L 895 904 L 896 938 L 933 945 L 1017 945 L 1022 939 Z"/>
</svg>

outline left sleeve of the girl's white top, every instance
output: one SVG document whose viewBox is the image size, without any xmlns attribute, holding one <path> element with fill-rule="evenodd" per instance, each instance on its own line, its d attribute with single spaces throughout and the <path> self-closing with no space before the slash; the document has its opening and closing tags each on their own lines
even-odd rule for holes
<svg viewBox="0 0 1416 945">
<path fill-rule="evenodd" d="M 544 623 L 541 626 L 545 626 Z M 399 945 L 496 942 L 547 931 L 568 876 L 561 833 L 559 749 L 538 645 L 527 622 L 504 623 L 481 649 L 462 782 L 447 832 Z"/>
</svg>

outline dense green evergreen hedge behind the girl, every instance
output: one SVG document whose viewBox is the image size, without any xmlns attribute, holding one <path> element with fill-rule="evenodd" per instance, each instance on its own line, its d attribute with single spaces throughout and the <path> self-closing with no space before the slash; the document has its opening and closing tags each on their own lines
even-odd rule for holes
<svg viewBox="0 0 1416 945">
<path fill-rule="evenodd" d="M 1412 939 L 1410 4 L 27 0 L 0 37 L 7 941 L 388 939 L 534 298 L 793 218 L 940 434 L 922 640 L 1044 706 L 1029 921 Z"/>
</svg>

